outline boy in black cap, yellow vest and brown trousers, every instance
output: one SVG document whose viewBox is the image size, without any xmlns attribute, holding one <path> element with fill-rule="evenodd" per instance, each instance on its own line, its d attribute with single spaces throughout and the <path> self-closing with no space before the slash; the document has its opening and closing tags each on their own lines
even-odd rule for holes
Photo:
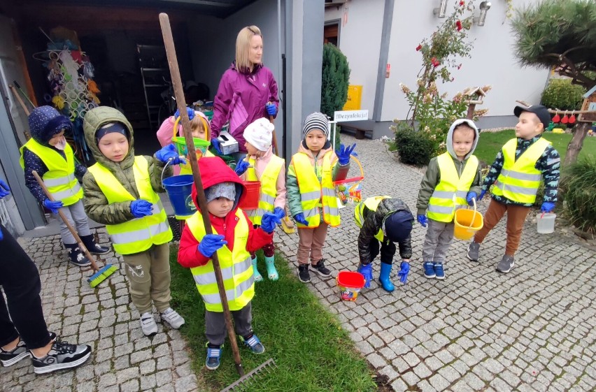
<svg viewBox="0 0 596 392">
<path fill-rule="evenodd" d="M 548 109 L 541 105 L 516 106 L 513 114 L 519 117 L 516 138 L 505 143 L 497 153 L 484 179 L 478 200 L 494 184 L 492 199 L 484 215 L 484 226 L 474 235 L 466 255 L 471 261 L 478 262 L 480 244 L 506 212 L 507 240 L 505 254 L 496 268 L 499 273 L 509 273 L 513 268 L 513 256 L 520 245 L 523 224 L 536 201 L 541 181 L 544 181 L 544 197 L 540 210 L 551 212 L 555 209 L 560 174 L 559 153 L 542 137 L 551 122 Z"/>
</svg>

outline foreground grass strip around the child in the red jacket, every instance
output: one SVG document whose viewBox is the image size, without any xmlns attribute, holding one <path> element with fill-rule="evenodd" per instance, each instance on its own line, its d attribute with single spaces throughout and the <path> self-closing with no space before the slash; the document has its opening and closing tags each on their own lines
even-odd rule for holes
<svg viewBox="0 0 596 392">
<path fill-rule="evenodd" d="M 239 378 L 232 349 L 226 340 L 218 370 L 204 366 L 206 338 L 205 308 L 190 270 L 176 261 L 178 247 L 170 253 L 172 306 L 185 318 L 180 329 L 191 350 L 197 375 L 213 391 L 219 391 Z M 260 272 L 265 273 L 262 253 Z M 376 391 L 374 373 L 367 361 L 355 350 L 353 342 L 336 318 L 290 273 L 288 262 L 276 256 L 280 279 L 256 284 L 253 299 L 253 329 L 265 346 L 255 355 L 239 341 L 240 355 L 246 373 L 269 358 L 277 368 L 261 375 L 250 391 Z M 339 291 L 338 291 L 339 296 Z"/>
</svg>

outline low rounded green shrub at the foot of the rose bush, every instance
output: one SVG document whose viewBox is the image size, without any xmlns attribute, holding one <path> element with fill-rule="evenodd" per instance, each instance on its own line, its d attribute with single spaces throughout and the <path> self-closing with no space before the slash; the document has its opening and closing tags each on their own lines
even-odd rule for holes
<svg viewBox="0 0 596 392">
<path fill-rule="evenodd" d="M 395 147 L 403 164 L 424 166 L 432 157 L 434 145 L 423 132 L 414 131 L 406 122 L 391 127 L 395 131 Z"/>
</svg>

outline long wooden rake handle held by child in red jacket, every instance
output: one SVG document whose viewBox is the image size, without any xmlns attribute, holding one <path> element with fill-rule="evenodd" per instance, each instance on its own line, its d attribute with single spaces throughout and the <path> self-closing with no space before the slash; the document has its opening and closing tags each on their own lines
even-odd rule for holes
<svg viewBox="0 0 596 392">
<path fill-rule="evenodd" d="M 174 48 L 170 20 L 166 13 L 159 14 L 159 24 L 162 27 L 162 35 L 164 36 L 164 45 L 166 47 L 166 55 L 168 57 L 170 76 L 173 84 L 174 94 L 176 95 L 176 104 L 178 105 L 178 112 L 180 113 L 180 118 L 182 119 L 184 140 L 186 142 L 186 147 L 188 150 L 188 159 L 190 159 L 190 168 L 192 170 L 194 186 L 197 187 L 197 199 L 199 201 L 201 215 L 203 215 L 205 233 L 212 234 L 213 231 L 211 231 L 209 212 L 207 210 L 207 200 L 205 198 L 203 181 L 201 180 L 201 172 L 199 171 L 199 163 L 197 161 L 197 152 L 194 150 L 194 141 L 192 140 L 192 133 L 190 131 L 190 120 L 188 119 L 188 114 L 186 112 L 186 103 L 184 101 L 182 79 L 180 78 L 180 69 L 178 68 L 178 59 L 176 57 L 176 48 Z M 211 256 L 211 261 L 213 262 L 213 270 L 215 271 L 215 280 L 217 280 L 218 282 L 218 290 L 220 291 L 220 298 L 223 305 L 225 324 L 227 327 L 227 335 L 232 346 L 232 353 L 234 354 L 236 370 L 238 370 L 238 374 L 240 375 L 240 377 L 243 377 L 244 369 L 242 368 L 240 351 L 238 349 L 238 343 L 236 342 L 236 333 L 234 333 L 234 326 L 232 326 L 232 314 L 229 312 L 229 305 L 227 303 L 227 296 L 225 294 L 222 270 L 220 268 L 220 261 L 218 259 L 217 252 L 215 252 L 213 256 Z"/>
</svg>

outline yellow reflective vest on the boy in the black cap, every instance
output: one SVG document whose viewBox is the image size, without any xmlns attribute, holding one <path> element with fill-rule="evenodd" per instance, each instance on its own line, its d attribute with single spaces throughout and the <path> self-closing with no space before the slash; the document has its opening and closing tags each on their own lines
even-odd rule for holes
<svg viewBox="0 0 596 392">
<path fill-rule="evenodd" d="M 542 179 L 542 173 L 535 167 L 536 162 L 551 142 L 539 138 L 516 160 L 517 143 L 514 138 L 503 146 L 503 168 L 492 188 L 492 194 L 517 203 L 534 203 Z"/>
</svg>

